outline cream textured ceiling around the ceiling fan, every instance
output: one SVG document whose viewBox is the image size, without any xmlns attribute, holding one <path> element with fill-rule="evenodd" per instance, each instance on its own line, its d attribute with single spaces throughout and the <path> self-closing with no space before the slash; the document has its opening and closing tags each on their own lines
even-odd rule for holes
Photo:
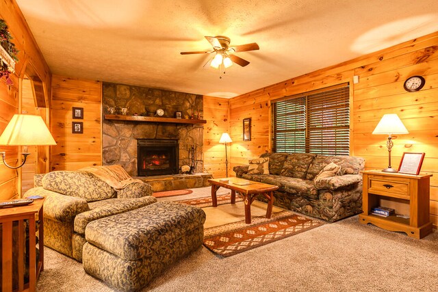
<svg viewBox="0 0 438 292">
<path fill-rule="evenodd" d="M 437 0 L 16 0 L 51 71 L 233 97 L 438 31 Z M 236 53 L 219 79 L 204 36 Z"/>
</svg>

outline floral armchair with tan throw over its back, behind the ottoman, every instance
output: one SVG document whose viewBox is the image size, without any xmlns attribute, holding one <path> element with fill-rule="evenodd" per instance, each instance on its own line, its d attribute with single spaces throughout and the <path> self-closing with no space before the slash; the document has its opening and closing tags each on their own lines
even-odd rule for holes
<svg viewBox="0 0 438 292">
<path fill-rule="evenodd" d="M 82 261 L 88 223 L 157 202 L 151 185 L 120 165 L 36 174 L 27 196 L 44 196 L 44 245 Z"/>
</svg>

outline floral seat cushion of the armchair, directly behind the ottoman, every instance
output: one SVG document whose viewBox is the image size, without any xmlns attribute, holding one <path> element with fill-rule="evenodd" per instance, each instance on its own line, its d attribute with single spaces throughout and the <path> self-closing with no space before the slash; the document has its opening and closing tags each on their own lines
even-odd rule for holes
<svg viewBox="0 0 438 292">
<path fill-rule="evenodd" d="M 87 224 L 103 217 L 135 210 L 157 202 L 153 196 L 143 198 L 107 199 L 90 202 L 90 211 L 78 214 L 75 217 L 74 230 L 76 233 L 85 234 Z"/>
</svg>

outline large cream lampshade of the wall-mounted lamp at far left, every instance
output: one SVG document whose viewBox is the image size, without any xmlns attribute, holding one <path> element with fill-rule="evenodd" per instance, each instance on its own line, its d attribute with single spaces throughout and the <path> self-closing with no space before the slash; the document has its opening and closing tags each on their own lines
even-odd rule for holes
<svg viewBox="0 0 438 292">
<path fill-rule="evenodd" d="M 40 116 L 15 114 L 0 136 L 0 145 L 56 145 Z"/>
</svg>

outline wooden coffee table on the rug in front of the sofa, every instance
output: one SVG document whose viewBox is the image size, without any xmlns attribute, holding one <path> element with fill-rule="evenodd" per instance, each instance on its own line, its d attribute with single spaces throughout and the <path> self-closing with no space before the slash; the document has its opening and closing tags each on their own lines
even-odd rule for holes
<svg viewBox="0 0 438 292">
<path fill-rule="evenodd" d="M 222 180 L 228 179 L 226 183 Z M 208 180 L 211 183 L 211 200 L 213 207 L 218 207 L 218 199 L 216 191 L 220 187 L 231 189 L 231 204 L 235 204 L 235 192 L 239 193 L 244 198 L 245 204 L 245 223 L 251 223 L 251 203 L 257 195 L 262 195 L 269 200 L 268 209 L 266 209 L 266 218 L 270 218 L 272 214 L 272 204 L 274 203 L 274 191 L 279 189 L 276 185 L 268 185 L 267 183 L 257 183 L 248 181 L 243 178 L 211 178 Z"/>
</svg>

